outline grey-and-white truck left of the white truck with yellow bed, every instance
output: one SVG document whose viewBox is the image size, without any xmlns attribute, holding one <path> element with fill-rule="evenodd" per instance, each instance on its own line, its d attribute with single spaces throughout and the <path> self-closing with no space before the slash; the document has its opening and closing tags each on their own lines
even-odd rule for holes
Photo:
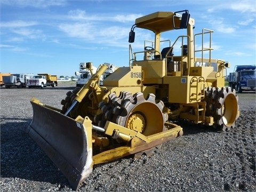
<svg viewBox="0 0 256 192">
<path fill-rule="evenodd" d="M 3 76 L 3 82 L 6 89 L 10 87 L 27 87 L 28 79 L 32 78 L 34 74 L 11 74 L 10 76 Z"/>
</svg>

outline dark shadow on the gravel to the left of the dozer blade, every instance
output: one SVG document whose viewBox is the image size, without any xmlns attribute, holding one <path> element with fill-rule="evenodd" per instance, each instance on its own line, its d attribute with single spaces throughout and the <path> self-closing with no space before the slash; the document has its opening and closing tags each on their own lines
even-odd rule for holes
<svg viewBox="0 0 256 192">
<path fill-rule="evenodd" d="M 31 118 L 1 119 L 1 177 L 59 183 L 69 186 L 44 151 L 25 132 Z M 12 122 L 10 122 L 12 121 Z"/>
</svg>

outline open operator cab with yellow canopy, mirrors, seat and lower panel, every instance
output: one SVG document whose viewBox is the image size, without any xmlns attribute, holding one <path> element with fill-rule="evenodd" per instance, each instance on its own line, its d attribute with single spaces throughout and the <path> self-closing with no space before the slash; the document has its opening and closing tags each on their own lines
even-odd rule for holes
<svg viewBox="0 0 256 192">
<path fill-rule="evenodd" d="M 185 45 L 183 45 L 184 43 L 188 50 L 187 42 L 190 42 L 188 36 L 179 36 L 181 37 L 179 41 L 175 41 L 171 44 L 170 39 L 161 40 L 161 34 L 175 29 L 188 28 L 187 30 L 190 31 L 191 26 L 193 25 L 194 19 L 190 19 L 188 10 L 178 12 L 155 12 L 135 20 L 135 24 L 132 26 L 129 33 L 129 43 L 133 43 L 135 40 L 134 29 L 136 27 L 150 30 L 155 36 L 155 41 L 145 40 L 145 49 L 143 51 L 132 53 L 130 46 L 130 52 L 132 53 L 132 59 L 130 59 L 130 61 L 132 61 L 132 65 L 141 66 L 142 70 L 145 71 L 144 83 L 161 82 L 162 78 L 166 75 L 185 75 L 186 69 L 183 69 L 182 73 L 180 63 L 186 62 L 187 65 L 183 66 L 184 68 L 188 67 L 188 60 L 190 59 L 187 54 L 188 51 L 183 53 L 181 50 L 181 54 L 178 54 L 178 56 L 174 57 L 173 55 L 174 45 L 177 46 L 180 42 L 182 42 L 182 44 L 179 46 L 185 48 Z M 141 54 L 144 54 L 142 55 L 143 58 L 137 59 Z"/>
</svg>

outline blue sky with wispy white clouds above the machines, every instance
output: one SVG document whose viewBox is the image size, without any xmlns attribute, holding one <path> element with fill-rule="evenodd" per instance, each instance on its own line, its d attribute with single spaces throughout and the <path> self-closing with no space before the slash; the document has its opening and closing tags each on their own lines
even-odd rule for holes
<svg viewBox="0 0 256 192">
<path fill-rule="evenodd" d="M 80 62 L 129 66 L 128 36 L 136 18 L 189 10 L 194 33 L 214 30 L 212 58 L 229 61 L 229 73 L 236 65 L 255 65 L 255 2 L 1 0 L 0 72 L 75 76 Z M 145 38 L 154 40 L 148 31 L 136 34 L 133 52 L 143 50 Z"/>
</svg>

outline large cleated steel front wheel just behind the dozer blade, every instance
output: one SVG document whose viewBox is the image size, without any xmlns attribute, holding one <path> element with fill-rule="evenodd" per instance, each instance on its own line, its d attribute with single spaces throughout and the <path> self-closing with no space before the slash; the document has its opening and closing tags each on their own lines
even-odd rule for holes
<svg viewBox="0 0 256 192">
<path fill-rule="evenodd" d="M 121 92 L 119 97 L 111 93 L 108 102 L 99 103 L 102 114 L 95 116 L 94 122 L 104 127 L 110 121 L 148 136 L 166 130 L 164 122 L 168 116 L 162 113 L 163 107 L 164 103 L 156 102 L 152 93 L 146 99 L 141 92 Z"/>
</svg>

